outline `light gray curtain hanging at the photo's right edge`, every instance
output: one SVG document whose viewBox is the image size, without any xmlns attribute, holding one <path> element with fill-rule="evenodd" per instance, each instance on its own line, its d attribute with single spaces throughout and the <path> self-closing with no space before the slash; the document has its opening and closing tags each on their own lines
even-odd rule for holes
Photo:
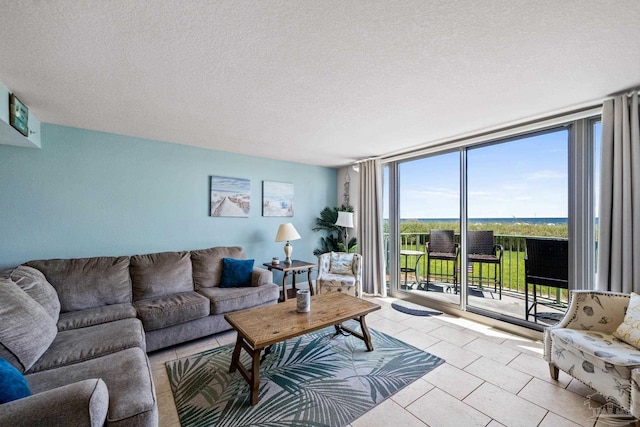
<svg viewBox="0 0 640 427">
<path fill-rule="evenodd" d="M 597 289 L 640 293 L 638 93 L 604 102 Z"/>
</svg>

